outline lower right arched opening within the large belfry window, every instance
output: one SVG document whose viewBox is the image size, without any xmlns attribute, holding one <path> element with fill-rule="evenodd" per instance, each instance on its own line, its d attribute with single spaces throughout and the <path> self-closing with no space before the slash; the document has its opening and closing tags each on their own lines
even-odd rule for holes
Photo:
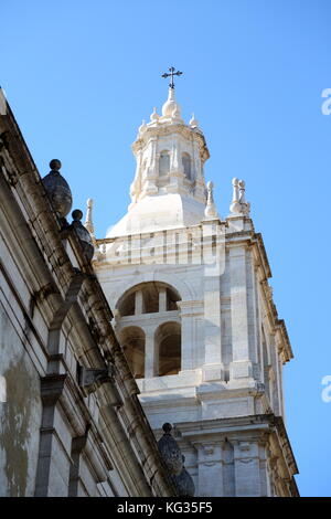
<svg viewBox="0 0 331 519">
<path fill-rule="evenodd" d="M 159 377 L 179 373 L 181 370 L 180 324 L 161 325 L 156 331 L 156 346 L 159 352 Z"/>
</svg>

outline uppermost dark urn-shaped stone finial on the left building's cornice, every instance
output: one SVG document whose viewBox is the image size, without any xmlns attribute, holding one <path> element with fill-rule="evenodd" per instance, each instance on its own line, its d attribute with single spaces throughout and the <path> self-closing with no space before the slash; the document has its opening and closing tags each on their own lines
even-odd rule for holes
<svg viewBox="0 0 331 519">
<path fill-rule="evenodd" d="M 55 212 L 60 218 L 65 218 L 72 209 L 73 198 L 67 181 L 60 173 L 61 166 L 58 159 L 51 160 L 51 171 L 42 182 Z"/>
</svg>

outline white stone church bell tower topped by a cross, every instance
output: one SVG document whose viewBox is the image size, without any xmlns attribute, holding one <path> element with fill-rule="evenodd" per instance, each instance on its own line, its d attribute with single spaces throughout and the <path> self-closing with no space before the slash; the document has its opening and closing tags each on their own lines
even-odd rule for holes
<svg viewBox="0 0 331 519">
<path fill-rule="evenodd" d="M 168 99 L 139 127 L 128 212 L 94 237 L 94 268 L 157 438 L 173 425 L 195 496 L 298 496 L 284 417 L 282 367 L 292 358 L 273 301 L 263 239 L 245 182 L 221 218 L 210 153 Z M 228 190 L 229 191 L 229 190 Z"/>
</svg>

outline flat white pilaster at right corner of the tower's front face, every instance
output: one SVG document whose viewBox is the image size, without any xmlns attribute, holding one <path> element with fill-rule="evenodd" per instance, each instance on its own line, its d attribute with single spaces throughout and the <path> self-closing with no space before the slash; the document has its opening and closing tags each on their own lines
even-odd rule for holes
<svg viewBox="0 0 331 519">
<path fill-rule="evenodd" d="M 249 359 L 246 250 L 244 246 L 229 248 L 232 348 L 231 379 L 250 378 Z"/>
</svg>

